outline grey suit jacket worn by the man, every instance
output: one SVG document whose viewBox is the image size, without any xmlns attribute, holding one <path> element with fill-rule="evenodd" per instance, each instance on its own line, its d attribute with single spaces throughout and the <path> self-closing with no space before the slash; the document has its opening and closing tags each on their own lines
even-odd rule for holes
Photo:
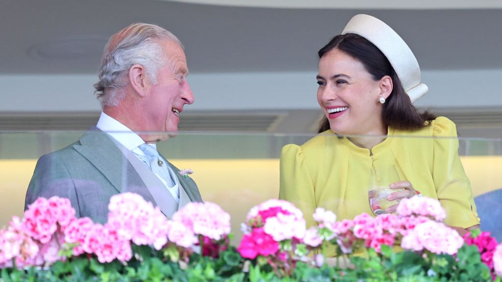
<svg viewBox="0 0 502 282">
<path fill-rule="evenodd" d="M 155 190 L 158 187 L 154 186 L 155 181 L 160 183 L 160 180 L 151 172 L 151 179 L 146 179 L 144 173 L 140 176 L 136 169 L 140 167 L 135 162 L 141 161 L 127 156 L 120 146 L 108 134 L 95 130 L 86 132 L 66 148 L 42 156 L 26 193 L 25 210 L 38 197 L 59 196 L 70 200 L 77 217 L 89 217 L 94 222 L 105 223 L 110 197 L 133 192 L 161 207 L 163 213 L 171 217 L 178 209 L 174 199 L 171 197 L 172 201 L 166 203 L 165 200 L 169 199 L 165 195 L 159 197 L 160 190 Z M 188 196 L 189 201 L 201 202 L 195 182 L 182 177 L 179 169 L 169 165 L 180 182 L 180 195 Z M 165 187 L 164 190 L 169 193 Z"/>
</svg>

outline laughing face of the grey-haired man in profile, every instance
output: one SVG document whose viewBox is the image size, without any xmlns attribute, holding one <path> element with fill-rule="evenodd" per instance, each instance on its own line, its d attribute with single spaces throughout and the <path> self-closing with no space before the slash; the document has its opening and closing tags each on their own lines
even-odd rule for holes
<svg viewBox="0 0 502 282">
<path fill-rule="evenodd" d="M 193 103 L 194 97 L 186 80 L 185 52 L 176 42 L 164 41 L 161 45 L 168 59 L 157 73 L 157 84 L 148 90 L 144 114 L 148 116 L 149 130 L 177 132 L 178 114 L 185 104 Z M 167 136 L 160 139 L 165 138 Z"/>
</svg>

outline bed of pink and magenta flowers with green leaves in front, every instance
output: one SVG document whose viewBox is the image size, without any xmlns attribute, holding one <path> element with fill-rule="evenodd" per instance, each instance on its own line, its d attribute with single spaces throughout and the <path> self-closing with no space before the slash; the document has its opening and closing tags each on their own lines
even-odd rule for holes
<svg viewBox="0 0 502 282">
<path fill-rule="evenodd" d="M 500 281 L 502 244 L 464 238 L 442 223 L 436 200 L 401 201 L 398 214 L 336 221 L 318 208 L 306 229 L 293 204 L 252 208 L 229 245 L 230 215 L 190 203 L 172 219 L 131 193 L 113 196 L 108 221 L 76 218 L 67 199 L 39 198 L 0 230 L 0 281 Z M 393 246 L 400 245 L 400 251 Z M 324 254 L 335 247 L 328 265 Z M 354 255 L 362 253 L 362 255 Z"/>
</svg>

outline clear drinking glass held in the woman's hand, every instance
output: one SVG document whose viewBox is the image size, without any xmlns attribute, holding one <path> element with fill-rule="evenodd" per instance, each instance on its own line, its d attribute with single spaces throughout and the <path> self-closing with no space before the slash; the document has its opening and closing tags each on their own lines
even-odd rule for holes
<svg viewBox="0 0 502 282">
<path fill-rule="evenodd" d="M 404 190 L 389 188 L 390 184 L 398 181 L 401 179 L 395 166 L 379 166 L 369 170 L 368 200 L 374 215 L 384 214 L 387 208 L 399 203 L 387 200 L 390 194 Z"/>
</svg>

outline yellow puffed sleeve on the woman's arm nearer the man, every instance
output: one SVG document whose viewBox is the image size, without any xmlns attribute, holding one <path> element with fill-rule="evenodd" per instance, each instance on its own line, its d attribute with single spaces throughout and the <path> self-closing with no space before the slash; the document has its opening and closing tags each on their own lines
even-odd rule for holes
<svg viewBox="0 0 502 282">
<path fill-rule="evenodd" d="M 279 199 L 293 203 L 303 212 L 307 228 L 315 225 L 314 184 L 309 173 L 302 149 L 298 145 L 284 146 L 280 161 Z"/>
</svg>

